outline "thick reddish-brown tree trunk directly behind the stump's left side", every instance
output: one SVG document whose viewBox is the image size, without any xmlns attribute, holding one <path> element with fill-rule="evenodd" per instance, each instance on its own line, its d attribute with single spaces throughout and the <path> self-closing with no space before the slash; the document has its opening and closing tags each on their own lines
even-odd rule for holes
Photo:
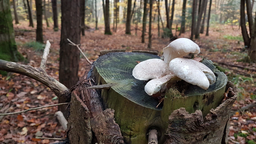
<svg viewBox="0 0 256 144">
<path fill-rule="evenodd" d="M 60 83 L 67 88 L 76 85 L 79 68 L 80 51 L 72 45 L 69 45 L 67 39 L 75 44 L 80 44 L 80 0 L 62 0 L 61 1 L 61 42 L 60 42 Z M 65 99 L 59 99 L 59 103 L 66 102 Z M 59 110 L 67 118 L 67 106 L 59 106 Z"/>
</svg>

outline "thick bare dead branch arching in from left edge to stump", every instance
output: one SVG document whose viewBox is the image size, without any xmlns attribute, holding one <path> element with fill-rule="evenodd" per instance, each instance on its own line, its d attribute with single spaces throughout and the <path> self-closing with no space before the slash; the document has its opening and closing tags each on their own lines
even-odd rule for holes
<svg viewBox="0 0 256 144">
<path fill-rule="evenodd" d="M 58 98 L 70 99 L 69 89 L 56 79 L 47 75 L 41 68 L 34 68 L 15 62 L 0 60 L 0 70 L 25 75 L 43 83 L 56 94 Z"/>
</svg>

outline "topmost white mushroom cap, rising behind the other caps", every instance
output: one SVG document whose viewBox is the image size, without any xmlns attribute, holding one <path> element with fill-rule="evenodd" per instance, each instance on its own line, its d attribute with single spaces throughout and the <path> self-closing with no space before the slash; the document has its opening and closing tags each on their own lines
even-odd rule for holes
<svg viewBox="0 0 256 144">
<path fill-rule="evenodd" d="M 187 38 L 173 40 L 167 47 L 163 48 L 164 62 L 169 64 L 174 58 L 181 58 L 189 53 L 199 54 L 199 46 Z"/>
</svg>

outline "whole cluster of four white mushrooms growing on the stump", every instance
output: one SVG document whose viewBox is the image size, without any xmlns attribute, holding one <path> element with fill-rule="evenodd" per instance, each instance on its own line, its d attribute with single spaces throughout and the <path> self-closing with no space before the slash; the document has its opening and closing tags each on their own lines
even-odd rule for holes
<svg viewBox="0 0 256 144">
<path fill-rule="evenodd" d="M 145 91 L 148 95 L 163 92 L 169 83 L 184 80 L 187 83 L 208 89 L 216 82 L 214 73 L 199 61 L 182 58 L 189 53 L 200 53 L 200 48 L 192 40 L 179 38 L 163 49 L 164 60 L 149 59 L 137 64 L 132 75 L 136 79 L 148 81 Z"/>
</svg>

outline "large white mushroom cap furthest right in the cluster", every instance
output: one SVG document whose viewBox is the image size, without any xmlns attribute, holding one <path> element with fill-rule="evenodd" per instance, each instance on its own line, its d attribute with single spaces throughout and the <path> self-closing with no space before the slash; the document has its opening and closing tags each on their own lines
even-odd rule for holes
<svg viewBox="0 0 256 144">
<path fill-rule="evenodd" d="M 203 89 L 209 88 L 209 81 L 211 81 L 212 84 L 216 81 L 215 75 L 211 71 L 211 69 L 195 60 L 175 58 L 170 61 L 169 67 L 170 72 L 179 77 L 180 79 L 193 85 L 197 85 Z"/>
</svg>

